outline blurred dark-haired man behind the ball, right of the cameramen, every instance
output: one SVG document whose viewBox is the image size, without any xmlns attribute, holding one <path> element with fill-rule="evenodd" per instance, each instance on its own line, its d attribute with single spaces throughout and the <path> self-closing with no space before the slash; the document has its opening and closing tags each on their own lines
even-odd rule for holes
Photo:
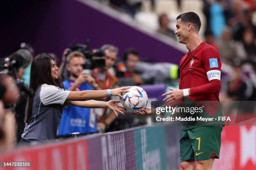
<svg viewBox="0 0 256 170">
<path fill-rule="evenodd" d="M 117 77 L 133 78 L 135 85 L 143 84 L 143 80 L 135 72 L 138 62 L 138 52 L 134 49 L 126 50 L 123 54 L 123 62 L 118 64 Z"/>
</svg>

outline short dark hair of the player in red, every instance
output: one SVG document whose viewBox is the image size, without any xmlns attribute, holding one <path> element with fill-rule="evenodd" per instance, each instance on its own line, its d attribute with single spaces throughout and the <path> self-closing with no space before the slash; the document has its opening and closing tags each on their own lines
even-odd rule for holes
<svg viewBox="0 0 256 170">
<path fill-rule="evenodd" d="M 201 28 L 201 21 L 199 16 L 194 12 L 183 13 L 177 16 L 176 20 L 181 19 L 182 23 L 191 23 L 199 31 Z"/>
</svg>

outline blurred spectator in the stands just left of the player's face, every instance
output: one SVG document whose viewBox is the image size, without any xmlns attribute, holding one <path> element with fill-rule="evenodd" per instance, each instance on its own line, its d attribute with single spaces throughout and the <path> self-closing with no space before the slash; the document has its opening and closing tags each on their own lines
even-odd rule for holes
<svg viewBox="0 0 256 170">
<path fill-rule="evenodd" d="M 174 33 L 174 30 L 169 28 L 170 19 L 166 14 L 161 14 L 158 18 L 159 22 L 159 29 L 158 32 L 167 35 L 169 37 L 172 37 L 174 39 L 177 38 L 177 36 Z"/>
</svg>

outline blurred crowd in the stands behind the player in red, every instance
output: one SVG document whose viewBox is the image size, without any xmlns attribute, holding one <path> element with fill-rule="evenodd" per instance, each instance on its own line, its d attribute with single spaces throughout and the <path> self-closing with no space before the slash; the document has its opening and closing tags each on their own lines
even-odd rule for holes
<svg viewBox="0 0 256 170">
<path fill-rule="evenodd" d="M 177 1 L 177 9 L 180 11 L 182 10 L 181 1 Z M 145 1 L 137 0 L 131 5 L 130 0 L 118 1 L 118 3 L 110 0 L 111 5 L 118 6 L 128 14 L 132 13 L 133 16 L 141 10 L 143 2 Z M 158 2 L 151 1 L 153 12 L 156 3 Z M 222 69 L 228 73 L 222 77 L 220 100 L 255 101 L 256 2 L 254 0 L 203 0 L 201 10 L 197 12 L 203 13 L 206 19 L 205 30 L 202 30 L 205 37 L 202 39 L 218 49 L 224 64 Z M 158 14 L 157 11 L 155 13 Z M 177 40 L 173 27 L 170 26 L 169 14 L 171 13 L 172 11 L 166 11 L 159 14 L 157 32 Z"/>
</svg>

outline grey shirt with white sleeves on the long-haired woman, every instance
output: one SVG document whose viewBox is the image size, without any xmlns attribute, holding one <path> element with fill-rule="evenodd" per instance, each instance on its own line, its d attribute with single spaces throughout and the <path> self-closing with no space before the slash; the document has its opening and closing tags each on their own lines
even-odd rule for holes
<svg viewBox="0 0 256 170">
<path fill-rule="evenodd" d="M 32 115 L 21 137 L 31 142 L 54 140 L 62 105 L 69 93 L 70 91 L 54 85 L 39 86 L 33 99 Z"/>
</svg>

